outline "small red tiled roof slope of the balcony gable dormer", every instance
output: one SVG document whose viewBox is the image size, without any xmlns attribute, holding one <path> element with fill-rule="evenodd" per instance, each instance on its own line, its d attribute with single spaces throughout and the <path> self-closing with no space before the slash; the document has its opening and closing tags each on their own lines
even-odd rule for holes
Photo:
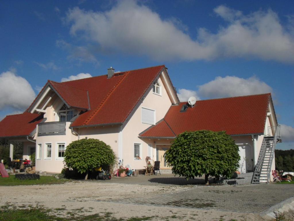
<svg viewBox="0 0 294 221">
<path fill-rule="evenodd" d="M 49 81 L 49 83 L 69 106 L 86 110 L 89 109 L 87 90 L 74 88 L 54 81 Z"/>
</svg>

